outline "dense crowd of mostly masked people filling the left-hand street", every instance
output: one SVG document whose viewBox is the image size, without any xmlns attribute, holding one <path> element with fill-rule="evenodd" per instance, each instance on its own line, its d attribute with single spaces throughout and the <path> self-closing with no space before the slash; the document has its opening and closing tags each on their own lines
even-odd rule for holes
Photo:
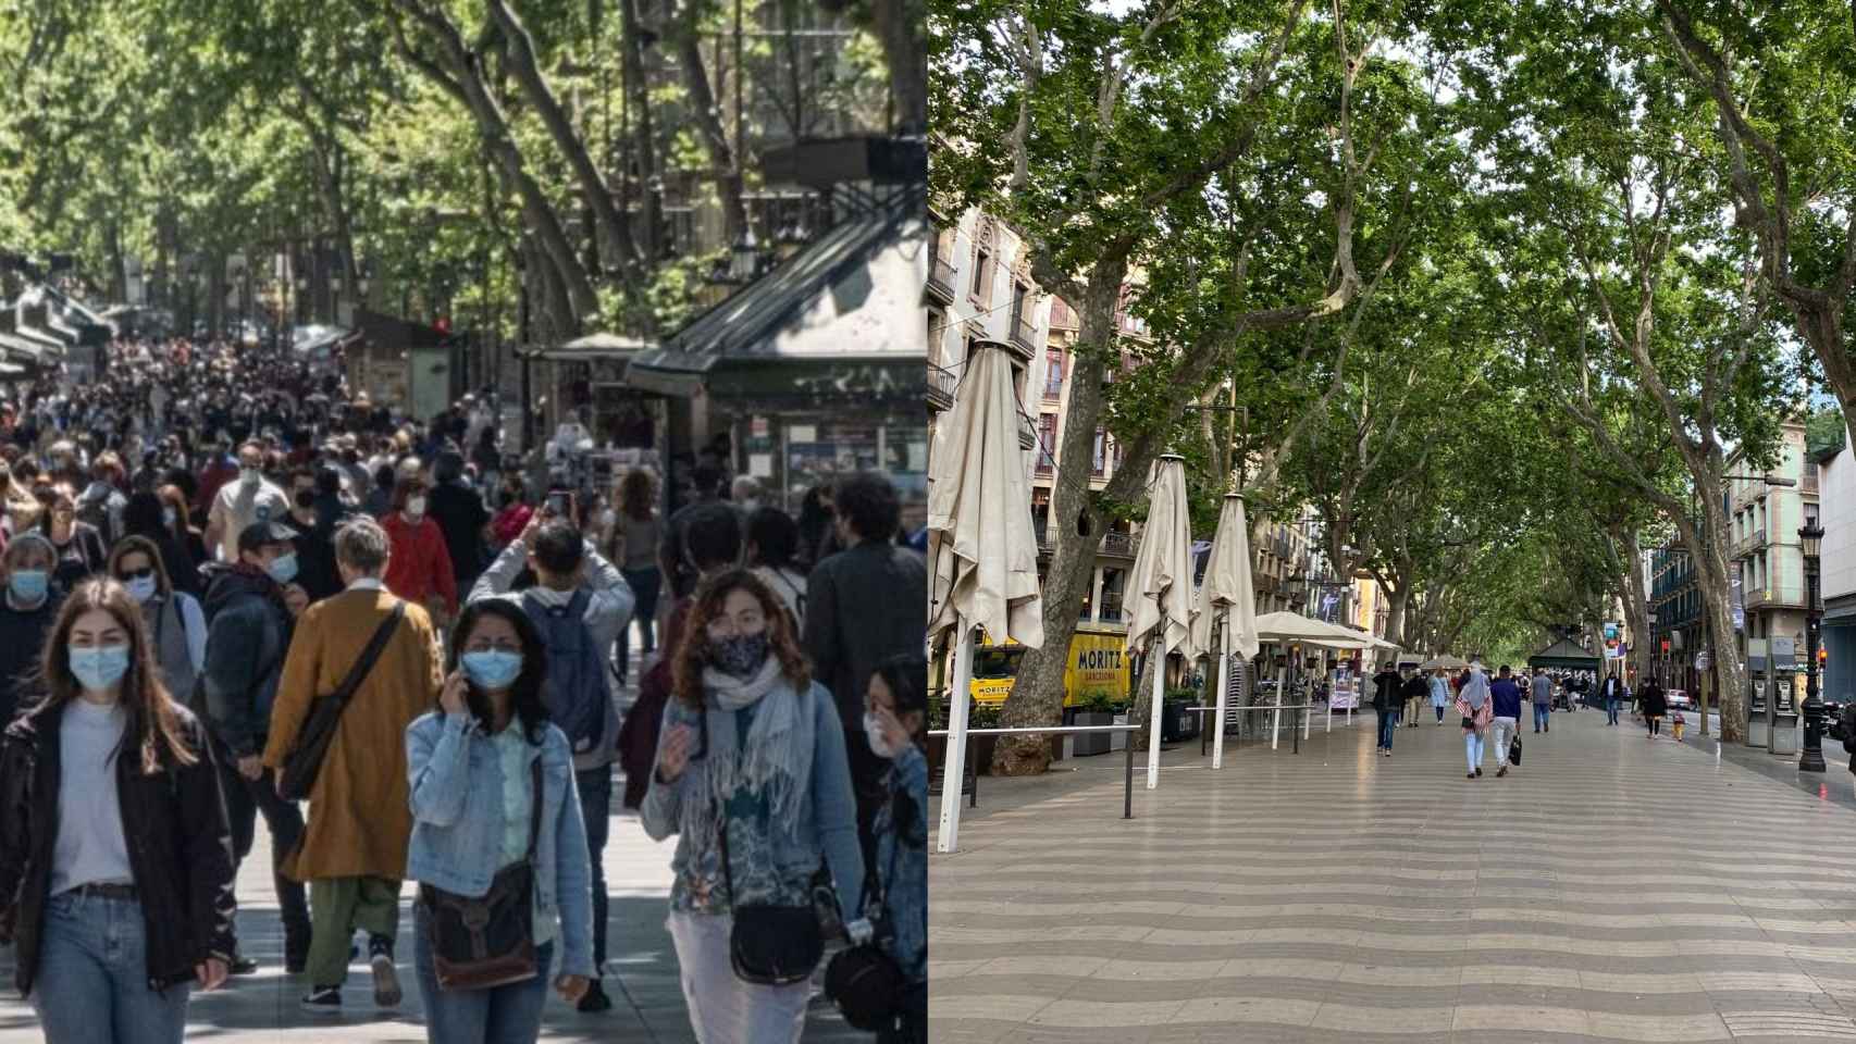
<svg viewBox="0 0 1856 1044">
<path fill-rule="evenodd" d="M 664 514 L 651 469 L 588 488 L 496 417 L 191 341 L 0 402 L 0 942 L 48 1040 L 180 1040 L 193 988 L 256 970 L 260 816 L 304 1011 L 356 961 L 401 1003 L 406 881 L 431 1040 L 535 1040 L 549 987 L 607 1011 L 614 790 L 676 834 L 698 1038 L 798 1040 L 822 981 L 926 1040 L 926 566 L 895 488 L 794 517 L 709 456 Z"/>
</svg>

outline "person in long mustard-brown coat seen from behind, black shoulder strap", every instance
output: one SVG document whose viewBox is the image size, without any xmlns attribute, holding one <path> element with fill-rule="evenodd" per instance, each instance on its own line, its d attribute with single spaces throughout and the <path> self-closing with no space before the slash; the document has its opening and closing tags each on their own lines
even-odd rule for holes
<svg viewBox="0 0 1856 1044">
<path fill-rule="evenodd" d="M 308 792 L 303 844 L 284 862 L 291 881 L 310 885 L 316 920 L 303 1007 L 319 1014 L 342 1011 L 354 929 L 367 931 L 375 1005 L 395 1007 L 401 999 L 393 936 L 412 833 L 405 734 L 436 703 L 440 666 L 431 617 L 386 590 L 388 560 L 390 541 L 379 523 L 353 519 L 336 532 L 336 566 L 347 590 L 303 610 L 264 747 L 264 764 L 280 771 L 310 703 L 356 673 Z M 364 649 L 382 629 L 390 636 L 366 664 Z"/>
</svg>

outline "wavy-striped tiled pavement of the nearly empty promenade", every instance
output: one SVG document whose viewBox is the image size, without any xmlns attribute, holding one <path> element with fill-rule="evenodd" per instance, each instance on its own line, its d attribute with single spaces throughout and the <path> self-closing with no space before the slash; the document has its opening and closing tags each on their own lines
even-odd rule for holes
<svg viewBox="0 0 1856 1044">
<path fill-rule="evenodd" d="M 1115 758 L 987 781 L 930 862 L 932 1038 L 1856 1040 L 1856 812 L 1594 712 L 1524 740 L 1474 783 L 1448 719 L 1192 744 L 1132 821 Z"/>
</svg>

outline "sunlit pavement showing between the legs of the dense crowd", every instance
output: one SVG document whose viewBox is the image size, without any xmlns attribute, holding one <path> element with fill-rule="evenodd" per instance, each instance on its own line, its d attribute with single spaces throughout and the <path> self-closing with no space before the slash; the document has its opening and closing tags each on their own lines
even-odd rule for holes
<svg viewBox="0 0 1856 1044">
<path fill-rule="evenodd" d="M 269 875 L 267 831 L 258 825 L 258 842 L 239 868 L 239 936 L 264 964 L 256 975 L 232 979 L 212 994 L 195 994 L 187 1011 L 187 1040 L 225 1040 L 236 1044 L 336 1044 L 336 1042 L 425 1042 L 419 990 L 412 977 L 412 894 L 401 898 L 399 979 L 406 999 L 386 1016 L 373 1007 L 371 975 L 366 964 L 349 970 L 343 990 L 345 1012 L 338 1018 L 312 1016 L 297 1009 L 304 992 L 301 975 L 282 974 L 284 938 L 277 916 L 277 894 Z M 677 959 L 664 931 L 670 894 L 672 842 L 644 836 L 637 816 L 612 818 L 612 838 L 605 849 L 611 894 L 611 936 L 607 992 L 612 1011 L 579 1014 L 561 998 L 549 996 L 544 1016 L 544 1042 L 638 1042 L 692 1044 L 683 990 L 677 985 Z M 32 1007 L 13 990 L 11 949 L 0 949 L 0 1044 L 41 1040 Z M 806 1025 L 806 1044 L 852 1044 L 870 1040 L 843 1024 L 830 1005 L 813 1005 Z"/>
</svg>

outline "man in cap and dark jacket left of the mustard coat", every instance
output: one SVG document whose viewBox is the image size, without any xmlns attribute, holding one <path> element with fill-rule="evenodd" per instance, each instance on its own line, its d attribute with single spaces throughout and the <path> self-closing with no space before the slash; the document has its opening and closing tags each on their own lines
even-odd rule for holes
<svg viewBox="0 0 1856 1044">
<path fill-rule="evenodd" d="M 219 762 L 232 851 L 251 855 L 256 818 L 271 831 L 271 875 L 284 920 L 284 970 L 301 972 L 310 951 L 310 909 L 303 885 L 284 875 L 284 857 L 303 836 L 303 812 L 277 796 L 264 768 L 271 707 L 290 651 L 297 614 L 308 593 L 295 580 L 297 532 L 282 523 L 252 523 L 234 540 L 238 560 L 208 564 L 206 662 L 195 710 L 206 721 Z M 247 975 L 258 962 L 234 955 L 232 974 Z"/>
</svg>

